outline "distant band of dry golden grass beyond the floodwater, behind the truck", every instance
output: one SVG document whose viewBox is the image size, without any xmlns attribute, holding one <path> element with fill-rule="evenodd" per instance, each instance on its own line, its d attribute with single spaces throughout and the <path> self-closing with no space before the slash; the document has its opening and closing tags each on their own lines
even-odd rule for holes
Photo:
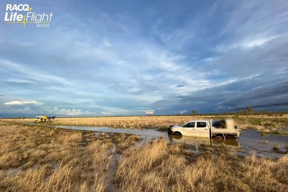
<svg viewBox="0 0 288 192">
<path fill-rule="evenodd" d="M 266 116 L 142 116 L 142 117 L 75 117 L 56 118 L 50 123 L 52 125 L 71 126 L 97 126 L 97 127 L 122 127 L 122 128 L 159 128 L 167 129 L 171 124 L 183 124 L 195 119 L 221 119 L 234 118 L 241 129 L 270 129 L 277 130 L 288 126 L 288 115 Z M 33 119 L 0 119 L 8 122 L 33 122 Z"/>
</svg>

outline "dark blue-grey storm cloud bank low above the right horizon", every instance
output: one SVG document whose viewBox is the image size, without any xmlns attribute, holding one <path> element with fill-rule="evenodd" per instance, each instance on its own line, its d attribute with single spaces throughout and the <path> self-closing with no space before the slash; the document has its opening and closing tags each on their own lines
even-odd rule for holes
<svg viewBox="0 0 288 192">
<path fill-rule="evenodd" d="M 275 77 L 277 79 L 277 77 Z M 273 78 L 270 80 L 275 82 Z M 257 88 L 253 88 L 257 84 Z M 236 88 L 235 88 L 236 87 Z M 288 80 L 266 85 L 260 77 L 244 79 L 213 88 L 194 92 L 193 95 L 166 97 L 153 105 L 179 110 L 196 109 L 201 113 L 224 112 L 251 106 L 262 110 L 287 109 Z"/>
</svg>

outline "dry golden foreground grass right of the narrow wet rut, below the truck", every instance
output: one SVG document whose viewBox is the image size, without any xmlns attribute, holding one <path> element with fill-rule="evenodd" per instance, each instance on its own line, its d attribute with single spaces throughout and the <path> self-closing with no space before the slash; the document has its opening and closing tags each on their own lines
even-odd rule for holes
<svg viewBox="0 0 288 192">
<path fill-rule="evenodd" d="M 284 191 L 287 174 L 288 155 L 276 161 L 221 153 L 187 157 L 161 139 L 124 152 L 115 181 L 120 191 Z"/>
</svg>

